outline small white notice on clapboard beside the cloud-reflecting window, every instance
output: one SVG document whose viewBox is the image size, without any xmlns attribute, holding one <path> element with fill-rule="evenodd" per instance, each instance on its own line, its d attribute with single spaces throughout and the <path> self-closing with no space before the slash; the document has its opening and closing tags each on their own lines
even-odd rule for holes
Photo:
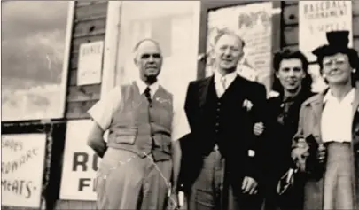
<svg viewBox="0 0 359 210">
<path fill-rule="evenodd" d="M 101 82 L 103 51 L 103 41 L 81 44 L 77 85 L 98 84 Z"/>
</svg>

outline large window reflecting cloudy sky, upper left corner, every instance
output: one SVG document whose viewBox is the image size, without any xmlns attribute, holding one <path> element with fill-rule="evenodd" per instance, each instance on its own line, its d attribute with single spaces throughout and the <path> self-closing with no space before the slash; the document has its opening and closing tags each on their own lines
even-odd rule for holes
<svg viewBox="0 0 359 210">
<path fill-rule="evenodd" d="M 66 1 L 2 3 L 2 121 L 63 117 L 70 5 Z"/>
</svg>

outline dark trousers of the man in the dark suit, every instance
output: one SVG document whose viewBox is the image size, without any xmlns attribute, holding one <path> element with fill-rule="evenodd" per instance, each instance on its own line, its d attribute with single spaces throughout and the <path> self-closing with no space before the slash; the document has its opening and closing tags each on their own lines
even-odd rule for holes
<svg viewBox="0 0 359 210">
<path fill-rule="evenodd" d="M 207 157 L 191 187 L 189 210 L 256 210 L 261 200 L 256 195 L 242 194 L 238 187 L 223 186 L 225 159 L 215 147 Z M 241 168 L 238 168 L 240 170 Z M 243 177 L 238 177 L 238 179 Z M 240 183 L 240 182 L 239 182 Z"/>
</svg>

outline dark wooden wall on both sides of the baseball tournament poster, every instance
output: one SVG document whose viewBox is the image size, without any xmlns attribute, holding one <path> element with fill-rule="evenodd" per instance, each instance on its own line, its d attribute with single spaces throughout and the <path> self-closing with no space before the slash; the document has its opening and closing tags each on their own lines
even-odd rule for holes
<svg viewBox="0 0 359 210">
<path fill-rule="evenodd" d="M 282 47 L 298 49 L 298 21 L 299 8 L 298 2 L 284 1 L 282 19 L 284 24 Z M 354 48 L 359 51 L 359 1 L 352 1 L 353 4 L 353 35 Z"/>
</svg>

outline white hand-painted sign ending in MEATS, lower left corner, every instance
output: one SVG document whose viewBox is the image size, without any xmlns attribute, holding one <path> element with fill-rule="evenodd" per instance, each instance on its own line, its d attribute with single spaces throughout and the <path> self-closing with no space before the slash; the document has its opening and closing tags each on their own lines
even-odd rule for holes
<svg viewBox="0 0 359 210">
<path fill-rule="evenodd" d="M 46 135 L 2 135 L 1 144 L 1 205 L 39 208 Z"/>
</svg>

